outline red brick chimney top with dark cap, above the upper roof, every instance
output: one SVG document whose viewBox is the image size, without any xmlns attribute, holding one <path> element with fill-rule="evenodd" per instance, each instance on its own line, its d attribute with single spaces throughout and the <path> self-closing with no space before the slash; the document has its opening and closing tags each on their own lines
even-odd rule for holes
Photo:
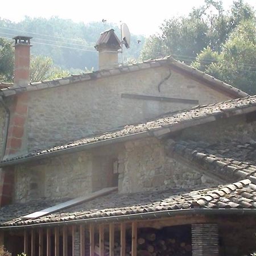
<svg viewBox="0 0 256 256">
<path fill-rule="evenodd" d="M 30 39 L 29 36 L 15 36 L 14 85 L 30 83 Z"/>
</svg>

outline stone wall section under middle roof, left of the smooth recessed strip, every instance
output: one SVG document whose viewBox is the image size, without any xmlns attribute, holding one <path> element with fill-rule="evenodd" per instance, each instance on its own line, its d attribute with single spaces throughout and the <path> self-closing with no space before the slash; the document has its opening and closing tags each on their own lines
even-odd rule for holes
<svg viewBox="0 0 256 256">
<path fill-rule="evenodd" d="M 20 164 L 15 168 L 14 200 L 73 198 L 92 191 L 92 156 L 81 152 Z"/>
</svg>

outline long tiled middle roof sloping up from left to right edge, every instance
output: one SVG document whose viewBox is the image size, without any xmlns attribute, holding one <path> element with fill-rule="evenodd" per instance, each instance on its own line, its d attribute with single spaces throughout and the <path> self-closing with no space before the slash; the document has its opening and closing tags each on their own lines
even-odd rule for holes
<svg viewBox="0 0 256 256">
<path fill-rule="evenodd" d="M 256 96 L 225 101 L 217 104 L 197 106 L 189 110 L 176 112 L 175 114 L 166 113 L 162 115 L 162 117 L 145 123 L 126 125 L 113 131 L 93 134 L 92 136 L 67 144 L 28 152 L 23 155 L 9 156 L 0 162 L 0 167 L 21 163 L 30 159 L 44 158 L 49 156 L 49 154 L 56 155 L 63 154 L 64 152 L 80 151 L 87 148 L 104 146 L 106 144 L 123 142 L 136 138 L 159 137 L 187 127 L 213 122 L 216 121 L 216 119 L 228 118 L 233 115 L 249 113 L 255 110 Z"/>
</svg>

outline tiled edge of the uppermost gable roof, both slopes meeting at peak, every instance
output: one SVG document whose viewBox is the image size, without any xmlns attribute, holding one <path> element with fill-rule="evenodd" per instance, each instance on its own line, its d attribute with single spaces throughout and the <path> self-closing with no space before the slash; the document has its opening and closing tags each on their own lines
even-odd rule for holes
<svg viewBox="0 0 256 256">
<path fill-rule="evenodd" d="M 171 68 L 175 69 L 176 71 L 183 72 L 191 76 L 192 78 L 200 80 L 201 82 L 204 82 L 206 86 L 209 86 L 214 90 L 219 90 L 223 93 L 226 93 L 233 98 L 248 96 L 247 93 L 242 92 L 241 90 L 234 88 L 233 86 L 226 84 L 225 82 L 215 79 L 214 77 L 207 75 L 204 72 L 201 72 L 184 63 L 181 63 L 180 61 L 174 60 L 171 56 L 164 57 L 163 59 L 146 60 L 146 61 L 143 61 L 143 63 L 121 65 L 118 68 L 113 68 L 113 69 L 104 69 L 96 72 L 89 72 L 89 73 L 84 73 L 80 75 L 71 75 L 68 77 L 63 77 L 63 78 L 53 79 L 53 80 L 46 80 L 41 82 L 31 82 L 26 86 L 10 86 L 8 88 L 4 88 L 0 90 L 0 95 L 8 97 L 8 96 L 13 96 L 15 94 L 19 94 L 23 92 L 30 92 L 33 90 L 41 90 L 41 89 L 53 88 L 57 86 L 64 86 L 64 85 L 72 84 L 75 82 L 100 79 L 100 78 L 109 77 L 109 76 L 122 75 L 123 73 L 139 71 L 141 69 L 146 69 L 146 68 L 155 68 L 163 65 L 169 65 Z"/>
</svg>

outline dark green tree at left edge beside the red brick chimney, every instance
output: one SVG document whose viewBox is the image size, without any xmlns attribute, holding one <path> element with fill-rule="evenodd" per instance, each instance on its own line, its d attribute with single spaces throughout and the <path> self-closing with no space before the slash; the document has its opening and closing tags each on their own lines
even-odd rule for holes
<svg viewBox="0 0 256 256">
<path fill-rule="evenodd" d="M 14 50 L 6 39 L 0 38 L 0 81 L 13 79 Z"/>
</svg>

